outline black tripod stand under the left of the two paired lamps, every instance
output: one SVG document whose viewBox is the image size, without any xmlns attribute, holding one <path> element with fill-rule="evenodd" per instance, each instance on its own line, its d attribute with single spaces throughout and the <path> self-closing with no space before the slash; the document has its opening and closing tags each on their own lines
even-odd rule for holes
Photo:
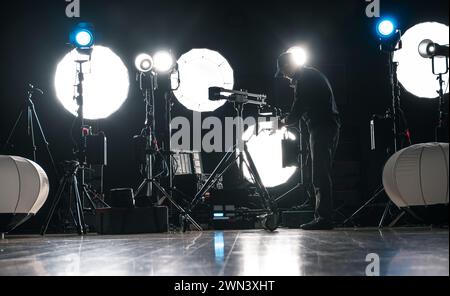
<svg viewBox="0 0 450 296">
<path fill-rule="evenodd" d="M 167 199 L 180 213 L 180 217 L 182 221 L 189 221 L 197 230 L 202 231 L 202 227 L 192 218 L 192 216 L 185 211 L 185 209 L 180 206 L 169 194 L 164 187 L 157 181 L 157 177 L 153 176 L 153 162 L 154 162 L 154 154 L 160 153 L 159 148 L 157 147 L 156 138 L 153 135 L 154 128 L 156 126 L 155 121 L 155 79 L 156 76 L 154 73 L 150 72 L 149 79 L 146 81 L 145 73 L 139 73 L 139 85 L 140 89 L 144 94 L 145 100 L 145 127 L 143 132 L 145 136 L 145 178 L 142 183 L 139 185 L 138 189 L 135 191 L 134 195 L 138 196 L 144 188 L 146 189 L 146 196 L 144 199 L 150 200 L 153 196 L 153 186 L 163 195 L 163 199 L 158 202 L 159 205 L 162 204 L 164 199 Z M 169 139 L 170 142 L 170 139 Z M 170 153 L 169 153 L 169 157 Z M 172 168 L 168 168 L 170 171 Z M 169 171 L 169 177 L 172 179 L 172 173 Z M 161 174 L 160 174 L 161 175 Z M 172 181 L 170 180 L 170 185 Z M 183 223 L 184 224 L 184 223 Z M 183 231 L 185 228 L 183 228 Z"/>
</svg>

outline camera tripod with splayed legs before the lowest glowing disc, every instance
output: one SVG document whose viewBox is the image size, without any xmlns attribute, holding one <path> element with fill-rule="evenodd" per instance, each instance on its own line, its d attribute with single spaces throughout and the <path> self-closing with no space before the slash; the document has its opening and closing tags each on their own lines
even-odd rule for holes
<svg viewBox="0 0 450 296">
<path fill-rule="evenodd" d="M 211 89 L 210 89 L 211 90 Z M 223 91 L 223 90 L 222 90 Z M 247 98 L 249 94 L 243 92 L 232 92 L 234 95 L 227 98 L 229 102 L 234 103 L 235 110 L 238 116 L 238 131 L 240 132 L 239 140 L 241 140 L 243 134 L 243 111 L 244 105 L 251 103 L 256 105 L 264 104 L 261 101 L 252 101 Z M 251 94 L 250 94 L 251 95 Z M 210 98 L 211 99 L 211 98 Z M 258 131 L 256 131 L 258 132 Z M 208 192 L 211 187 L 213 187 L 222 176 L 236 163 L 239 163 L 240 175 L 243 175 L 243 165 L 245 165 L 248 169 L 248 172 L 254 181 L 256 190 L 261 198 L 262 205 L 264 209 L 254 210 L 253 213 L 259 215 L 264 227 L 269 231 L 275 231 L 278 228 L 278 209 L 276 203 L 270 196 L 267 188 L 264 186 L 261 177 L 258 173 L 258 170 L 253 162 L 253 159 L 248 152 L 247 141 L 243 143 L 243 149 L 239 149 L 240 145 L 235 144 L 232 148 L 230 148 L 225 156 L 221 159 L 217 167 L 212 172 L 211 176 L 206 180 L 203 184 L 202 188 L 197 192 L 194 199 L 191 201 L 189 206 L 189 212 L 192 212 L 194 208 L 203 200 L 204 195 Z"/>
</svg>

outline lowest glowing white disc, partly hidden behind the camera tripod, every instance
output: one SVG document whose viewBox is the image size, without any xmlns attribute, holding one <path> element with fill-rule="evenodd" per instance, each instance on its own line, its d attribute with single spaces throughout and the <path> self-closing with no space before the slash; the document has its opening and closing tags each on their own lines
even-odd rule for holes
<svg viewBox="0 0 450 296">
<path fill-rule="evenodd" d="M 295 139 L 295 135 L 288 132 L 286 128 L 273 129 L 273 122 L 261 122 L 259 133 L 255 134 L 255 126 L 250 126 L 242 139 L 247 142 L 248 152 L 255 163 L 256 169 L 264 186 L 273 188 L 289 181 L 294 175 L 297 167 L 283 168 L 283 154 L 281 142 L 286 137 Z M 253 183 L 253 179 L 247 167 L 243 168 L 244 177 Z"/>
</svg>

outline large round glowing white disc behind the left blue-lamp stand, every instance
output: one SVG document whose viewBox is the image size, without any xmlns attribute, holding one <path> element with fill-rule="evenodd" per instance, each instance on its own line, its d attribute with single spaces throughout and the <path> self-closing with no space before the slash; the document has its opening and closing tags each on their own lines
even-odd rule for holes
<svg viewBox="0 0 450 296">
<path fill-rule="evenodd" d="M 58 64 L 55 74 L 56 96 L 70 113 L 77 116 L 74 100 L 78 83 L 76 60 L 80 54 L 74 49 Z M 85 57 L 84 57 L 85 59 Z M 116 112 L 128 97 L 128 70 L 122 60 L 109 48 L 94 46 L 91 61 L 83 64 L 84 117 L 102 119 Z"/>
</svg>

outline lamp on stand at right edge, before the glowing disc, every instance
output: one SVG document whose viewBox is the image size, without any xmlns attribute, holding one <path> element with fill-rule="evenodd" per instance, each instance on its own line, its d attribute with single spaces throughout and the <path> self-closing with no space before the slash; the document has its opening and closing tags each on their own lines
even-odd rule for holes
<svg viewBox="0 0 450 296">
<path fill-rule="evenodd" d="M 435 131 L 435 141 L 439 142 L 441 139 L 441 134 L 443 134 L 445 119 L 448 114 L 445 113 L 445 101 L 444 101 L 444 78 L 443 76 L 448 74 L 449 72 L 449 46 L 448 45 L 440 45 L 434 43 L 430 39 L 425 39 L 419 44 L 419 54 L 422 58 L 431 59 L 431 68 L 433 71 L 433 75 L 437 76 L 437 81 L 439 83 L 439 89 L 437 94 L 439 95 L 439 121 L 436 126 Z M 445 68 L 441 71 L 437 70 L 436 62 L 437 60 L 442 61 L 445 60 Z"/>
</svg>

